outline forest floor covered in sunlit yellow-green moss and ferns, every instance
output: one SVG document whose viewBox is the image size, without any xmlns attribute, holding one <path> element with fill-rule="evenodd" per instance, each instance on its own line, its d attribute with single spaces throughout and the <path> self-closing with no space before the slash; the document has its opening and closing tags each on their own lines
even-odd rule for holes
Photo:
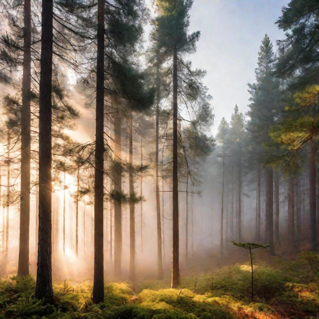
<svg viewBox="0 0 319 319">
<path fill-rule="evenodd" d="M 178 289 L 169 278 L 139 282 L 134 291 L 130 283 L 106 283 L 104 302 L 93 305 L 90 280 L 54 283 L 46 303 L 34 297 L 33 276 L 11 276 L 0 281 L 0 318 L 319 318 L 319 255 L 256 261 L 253 301 L 250 278 L 249 263 L 238 263 L 181 278 Z"/>
</svg>

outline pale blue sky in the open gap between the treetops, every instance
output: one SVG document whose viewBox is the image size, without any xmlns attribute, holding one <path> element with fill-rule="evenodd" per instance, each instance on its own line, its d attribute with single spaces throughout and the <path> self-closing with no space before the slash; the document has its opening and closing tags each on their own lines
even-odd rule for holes
<svg viewBox="0 0 319 319">
<path fill-rule="evenodd" d="M 150 7 L 151 0 L 146 0 Z M 265 33 L 274 44 L 284 38 L 275 25 L 287 0 L 194 0 L 189 31 L 201 31 L 194 68 L 207 71 L 215 113 L 213 133 L 223 116 L 230 120 L 235 104 L 246 112 L 248 83 L 255 81 L 259 46 Z"/>
</svg>

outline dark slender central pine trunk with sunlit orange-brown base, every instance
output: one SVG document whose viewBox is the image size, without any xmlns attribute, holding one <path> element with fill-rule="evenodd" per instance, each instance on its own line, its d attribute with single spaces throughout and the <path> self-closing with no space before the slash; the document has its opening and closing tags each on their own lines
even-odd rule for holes
<svg viewBox="0 0 319 319">
<path fill-rule="evenodd" d="M 179 276 L 179 220 L 178 220 L 178 166 L 177 166 L 177 48 L 173 52 L 173 253 L 172 288 L 180 283 Z"/>
</svg>

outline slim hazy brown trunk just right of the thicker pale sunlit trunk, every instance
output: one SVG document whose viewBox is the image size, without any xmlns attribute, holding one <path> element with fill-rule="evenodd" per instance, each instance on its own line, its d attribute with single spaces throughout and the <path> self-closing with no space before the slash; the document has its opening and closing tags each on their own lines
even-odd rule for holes
<svg viewBox="0 0 319 319">
<path fill-rule="evenodd" d="M 133 116 L 130 112 L 129 119 L 129 184 L 130 184 L 130 281 L 135 287 L 135 205 L 134 197 L 134 181 L 133 181 L 133 132 L 132 132 Z"/>
</svg>

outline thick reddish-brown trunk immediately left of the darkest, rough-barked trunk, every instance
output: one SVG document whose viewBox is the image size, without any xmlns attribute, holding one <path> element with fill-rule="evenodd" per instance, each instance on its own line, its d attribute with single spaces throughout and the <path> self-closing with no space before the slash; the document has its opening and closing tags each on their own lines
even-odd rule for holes
<svg viewBox="0 0 319 319">
<path fill-rule="evenodd" d="M 18 276 L 29 274 L 31 167 L 31 3 L 24 2 L 23 76 L 21 109 L 21 188 Z"/>
</svg>

